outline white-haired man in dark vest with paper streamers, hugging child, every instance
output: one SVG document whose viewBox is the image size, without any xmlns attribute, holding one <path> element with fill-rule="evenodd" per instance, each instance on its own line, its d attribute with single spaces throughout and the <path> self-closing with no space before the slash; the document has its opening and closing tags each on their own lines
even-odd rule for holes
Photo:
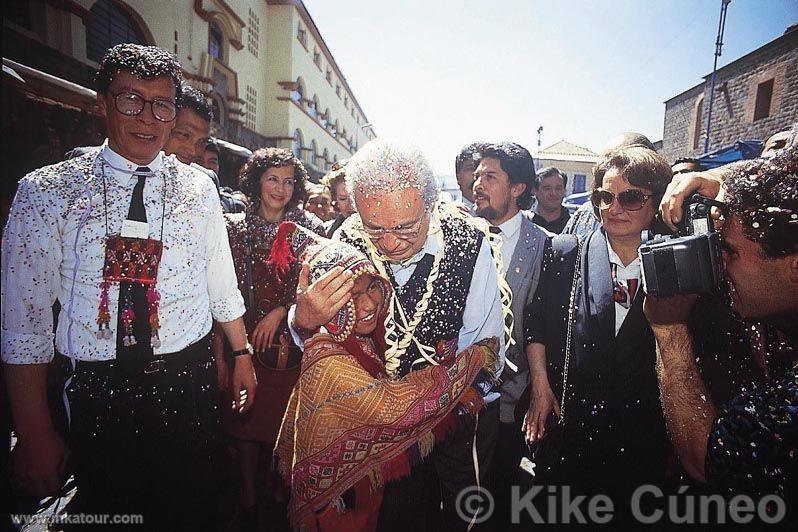
<svg viewBox="0 0 798 532">
<path fill-rule="evenodd" d="M 349 162 L 346 183 L 357 212 L 336 238 L 363 251 L 394 288 L 385 324 L 390 376 L 437 364 L 494 336 L 500 338 L 496 374 L 501 374 L 506 312 L 500 284 L 506 283 L 498 274 L 487 225 L 481 229 L 479 222 L 437 201 L 432 170 L 414 148 L 369 142 Z M 306 279 L 303 271 L 297 304 L 289 313 L 303 337 L 330 321 L 349 300 L 352 286 L 351 275 L 341 271 L 310 286 Z M 504 301 L 509 303 L 506 296 Z M 458 517 L 454 503 L 463 489 L 486 476 L 498 429 L 499 394 L 482 391 L 486 406 L 476 427 L 462 424 L 408 478 L 386 486 L 380 530 L 425 528 L 426 510 L 438 496 L 435 473 L 444 509 L 441 528 L 465 530 L 468 523 Z M 479 481 L 472 459 L 475 437 Z"/>
</svg>

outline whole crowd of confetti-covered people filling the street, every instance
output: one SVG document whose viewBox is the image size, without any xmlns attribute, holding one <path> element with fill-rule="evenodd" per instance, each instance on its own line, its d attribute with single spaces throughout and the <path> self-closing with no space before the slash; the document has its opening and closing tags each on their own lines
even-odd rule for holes
<svg viewBox="0 0 798 532">
<path fill-rule="evenodd" d="M 383 139 L 320 184 L 261 148 L 226 190 L 170 54 L 111 48 L 97 93 L 107 140 L 23 178 L 3 233 L 18 493 L 73 475 L 69 513 L 141 530 L 503 531 L 531 482 L 549 523 L 566 487 L 636 530 L 640 486 L 687 483 L 796 522 L 795 126 L 713 170 L 623 133 L 572 214 L 567 176 L 503 141 L 456 156 L 457 202 Z M 643 235 L 693 194 L 724 205 L 722 289 L 649 296 Z"/>
</svg>

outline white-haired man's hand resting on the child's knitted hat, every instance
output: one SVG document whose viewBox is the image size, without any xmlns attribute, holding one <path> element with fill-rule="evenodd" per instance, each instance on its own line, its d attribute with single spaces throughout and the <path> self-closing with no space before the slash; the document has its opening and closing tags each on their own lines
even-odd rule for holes
<svg viewBox="0 0 798 532">
<path fill-rule="evenodd" d="M 352 297 L 352 272 L 340 266 L 332 268 L 313 284 L 309 284 L 310 266 L 302 265 L 296 293 L 294 326 L 302 331 L 315 331 L 343 308 Z"/>
</svg>

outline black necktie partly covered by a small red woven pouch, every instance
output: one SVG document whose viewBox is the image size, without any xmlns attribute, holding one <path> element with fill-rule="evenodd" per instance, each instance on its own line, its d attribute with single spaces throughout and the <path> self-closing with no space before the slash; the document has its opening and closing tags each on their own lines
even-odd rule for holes
<svg viewBox="0 0 798 532">
<path fill-rule="evenodd" d="M 133 173 L 138 178 L 133 187 L 133 197 L 130 200 L 130 209 L 127 213 L 128 220 L 137 222 L 147 221 L 147 210 L 144 208 L 144 182 L 152 172 L 146 166 L 136 168 Z M 150 336 L 152 328 L 149 323 L 149 305 L 147 304 L 147 287 L 141 283 L 120 283 L 119 285 L 119 313 L 116 320 L 116 348 L 117 353 L 130 350 L 132 345 L 126 345 L 125 326 L 122 320 L 125 309 L 133 310 L 133 337 L 134 345 L 152 354 Z M 138 351 L 138 350 L 137 350 Z"/>
</svg>

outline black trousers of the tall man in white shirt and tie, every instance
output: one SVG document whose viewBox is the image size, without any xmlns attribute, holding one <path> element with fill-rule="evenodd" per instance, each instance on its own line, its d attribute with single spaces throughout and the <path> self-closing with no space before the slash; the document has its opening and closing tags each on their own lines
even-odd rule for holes
<svg viewBox="0 0 798 532">
<path fill-rule="evenodd" d="M 145 373 L 77 361 L 67 389 L 70 513 L 140 514 L 138 530 L 213 530 L 220 456 L 210 338 Z"/>
</svg>

